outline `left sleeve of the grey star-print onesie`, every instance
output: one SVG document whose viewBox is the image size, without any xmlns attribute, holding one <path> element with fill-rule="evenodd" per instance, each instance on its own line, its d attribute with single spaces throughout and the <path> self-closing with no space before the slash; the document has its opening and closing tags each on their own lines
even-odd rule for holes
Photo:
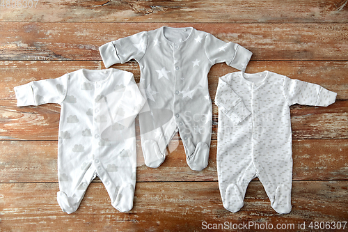
<svg viewBox="0 0 348 232">
<path fill-rule="evenodd" d="M 139 61 L 143 58 L 148 46 L 148 32 L 143 31 L 132 36 L 107 42 L 99 48 L 106 68 L 115 63 L 125 63 L 131 59 Z"/>
</svg>

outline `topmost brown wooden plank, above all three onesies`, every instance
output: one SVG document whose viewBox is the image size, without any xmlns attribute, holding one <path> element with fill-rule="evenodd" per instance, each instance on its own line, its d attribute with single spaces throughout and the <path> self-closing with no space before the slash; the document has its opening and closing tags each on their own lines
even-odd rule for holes
<svg viewBox="0 0 348 232">
<path fill-rule="evenodd" d="M 348 22 L 345 0 L 37 1 L 1 8 L 13 22 Z"/>
</svg>

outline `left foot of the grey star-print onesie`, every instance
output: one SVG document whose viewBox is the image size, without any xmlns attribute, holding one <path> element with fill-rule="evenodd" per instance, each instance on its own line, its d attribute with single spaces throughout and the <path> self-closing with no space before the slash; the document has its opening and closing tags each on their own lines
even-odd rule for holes
<svg viewBox="0 0 348 232">
<path fill-rule="evenodd" d="M 143 142 L 142 146 L 146 166 L 157 168 L 164 162 L 165 156 L 162 155 L 156 141 L 151 139 L 146 140 Z"/>
</svg>

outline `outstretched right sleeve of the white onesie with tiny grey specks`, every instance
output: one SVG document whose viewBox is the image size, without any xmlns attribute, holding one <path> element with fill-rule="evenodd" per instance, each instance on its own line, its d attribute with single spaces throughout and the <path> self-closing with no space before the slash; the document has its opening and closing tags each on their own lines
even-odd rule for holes
<svg viewBox="0 0 348 232">
<path fill-rule="evenodd" d="M 337 93 L 327 90 L 317 84 L 302 82 L 298 79 L 284 77 L 284 97 L 289 105 L 311 105 L 327 107 L 335 102 Z"/>
</svg>

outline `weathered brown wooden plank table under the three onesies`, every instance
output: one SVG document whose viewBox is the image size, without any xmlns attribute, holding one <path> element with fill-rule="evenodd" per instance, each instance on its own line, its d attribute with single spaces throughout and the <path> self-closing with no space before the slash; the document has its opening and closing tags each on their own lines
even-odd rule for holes
<svg viewBox="0 0 348 232">
<path fill-rule="evenodd" d="M 19 0 L 12 2 L 10 8 L 6 1 L 0 8 L 0 231 L 203 231 L 224 223 L 274 226 L 262 231 L 279 231 L 277 224 L 290 226 L 287 231 L 310 231 L 310 222 L 317 231 L 315 222 L 348 221 L 347 1 L 38 0 L 31 1 L 31 8 L 24 8 L 24 1 L 22 8 Z M 223 208 L 214 104 L 206 169 L 189 169 L 178 136 L 161 167 L 145 167 L 138 133 L 139 167 L 130 212 L 111 206 L 99 179 L 90 184 L 77 212 L 68 215 L 59 208 L 60 107 L 16 107 L 13 87 L 80 68 L 104 68 L 100 45 L 164 25 L 193 26 L 250 49 L 253 57 L 246 72 L 270 70 L 338 93 L 329 107 L 291 108 L 294 169 L 289 215 L 271 208 L 257 179 L 248 186 L 242 210 Z M 135 61 L 113 68 L 134 72 L 139 82 Z M 218 77 L 234 71 L 219 64 L 209 72 L 213 103 Z M 239 227 L 257 227 L 248 229 Z"/>
</svg>

